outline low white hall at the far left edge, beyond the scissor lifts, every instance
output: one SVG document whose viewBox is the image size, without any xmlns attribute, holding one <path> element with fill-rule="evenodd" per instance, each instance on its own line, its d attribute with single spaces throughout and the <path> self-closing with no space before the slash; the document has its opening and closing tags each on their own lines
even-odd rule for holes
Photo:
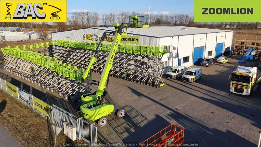
<svg viewBox="0 0 261 147">
<path fill-rule="evenodd" d="M 0 40 L 1 41 L 20 41 L 20 40 L 28 40 L 29 35 L 19 33 L 19 32 L 3 32 L 0 33 Z"/>
</svg>

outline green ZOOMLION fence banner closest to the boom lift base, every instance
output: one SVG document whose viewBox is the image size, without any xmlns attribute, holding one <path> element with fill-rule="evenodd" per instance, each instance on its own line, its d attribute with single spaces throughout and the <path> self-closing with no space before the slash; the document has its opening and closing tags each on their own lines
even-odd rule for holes
<svg viewBox="0 0 261 147">
<path fill-rule="evenodd" d="M 42 112 L 44 115 L 50 117 L 51 106 L 36 98 L 35 96 L 33 96 L 33 107 Z"/>
</svg>

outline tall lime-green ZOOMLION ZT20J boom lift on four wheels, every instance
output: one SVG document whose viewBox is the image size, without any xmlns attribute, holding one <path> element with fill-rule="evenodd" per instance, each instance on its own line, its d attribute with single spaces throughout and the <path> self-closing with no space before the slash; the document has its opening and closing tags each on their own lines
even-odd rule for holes
<svg viewBox="0 0 261 147">
<path fill-rule="evenodd" d="M 107 87 L 109 83 L 109 73 L 112 68 L 112 63 L 114 60 L 114 56 L 116 54 L 116 50 L 118 48 L 118 44 L 120 43 L 121 36 L 127 34 L 127 28 L 136 28 L 137 24 L 131 24 L 131 23 L 122 23 L 120 24 L 113 24 L 116 32 L 104 32 L 102 38 L 100 39 L 100 42 L 98 44 L 98 47 L 96 48 L 95 53 L 93 54 L 92 59 L 90 60 L 90 63 L 87 67 L 87 70 L 83 76 L 83 79 L 89 80 L 91 78 L 91 70 L 92 65 L 97 57 L 98 50 L 102 44 L 103 39 L 107 35 L 115 35 L 114 40 L 112 42 L 112 46 L 109 52 L 108 59 L 106 61 L 104 70 L 102 72 L 102 76 L 100 79 L 100 82 L 98 84 L 98 89 L 94 93 L 88 93 L 83 94 L 81 96 L 81 106 L 80 111 L 82 117 L 84 117 L 87 120 L 95 121 L 99 120 L 98 124 L 100 127 L 105 127 L 108 120 L 104 117 L 112 112 L 115 112 L 119 118 L 122 118 L 125 116 L 125 110 L 119 109 L 116 107 L 114 108 L 114 105 L 112 104 L 112 100 L 107 93 Z M 144 27 L 144 26 L 139 26 Z M 126 30 L 126 32 L 124 32 Z M 107 82 L 107 84 L 106 84 Z M 106 85 L 105 85 L 106 84 Z"/>
</svg>

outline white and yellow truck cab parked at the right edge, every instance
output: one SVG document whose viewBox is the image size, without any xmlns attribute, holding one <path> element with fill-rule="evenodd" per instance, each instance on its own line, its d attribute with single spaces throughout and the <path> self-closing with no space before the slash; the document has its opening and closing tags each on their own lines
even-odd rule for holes
<svg viewBox="0 0 261 147">
<path fill-rule="evenodd" d="M 257 67 L 239 66 L 229 75 L 230 92 L 251 95 L 259 87 L 261 72 Z"/>
</svg>

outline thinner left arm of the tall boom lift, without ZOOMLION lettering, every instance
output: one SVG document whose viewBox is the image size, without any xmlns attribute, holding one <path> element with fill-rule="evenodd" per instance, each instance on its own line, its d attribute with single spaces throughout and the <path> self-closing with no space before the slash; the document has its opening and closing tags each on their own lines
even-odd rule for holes
<svg viewBox="0 0 261 147">
<path fill-rule="evenodd" d="M 90 63 L 88 64 L 88 67 L 87 67 L 86 71 L 84 72 L 84 75 L 82 76 L 83 82 L 85 82 L 85 83 L 88 82 L 91 77 L 93 64 L 97 58 L 97 54 L 100 49 L 100 46 L 102 45 L 102 42 L 107 35 L 115 35 L 115 32 L 104 32 L 103 33 L 102 38 L 100 39 L 100 42 L 99 42 L 95 52 L 93 53 Z"/>
</svg>

